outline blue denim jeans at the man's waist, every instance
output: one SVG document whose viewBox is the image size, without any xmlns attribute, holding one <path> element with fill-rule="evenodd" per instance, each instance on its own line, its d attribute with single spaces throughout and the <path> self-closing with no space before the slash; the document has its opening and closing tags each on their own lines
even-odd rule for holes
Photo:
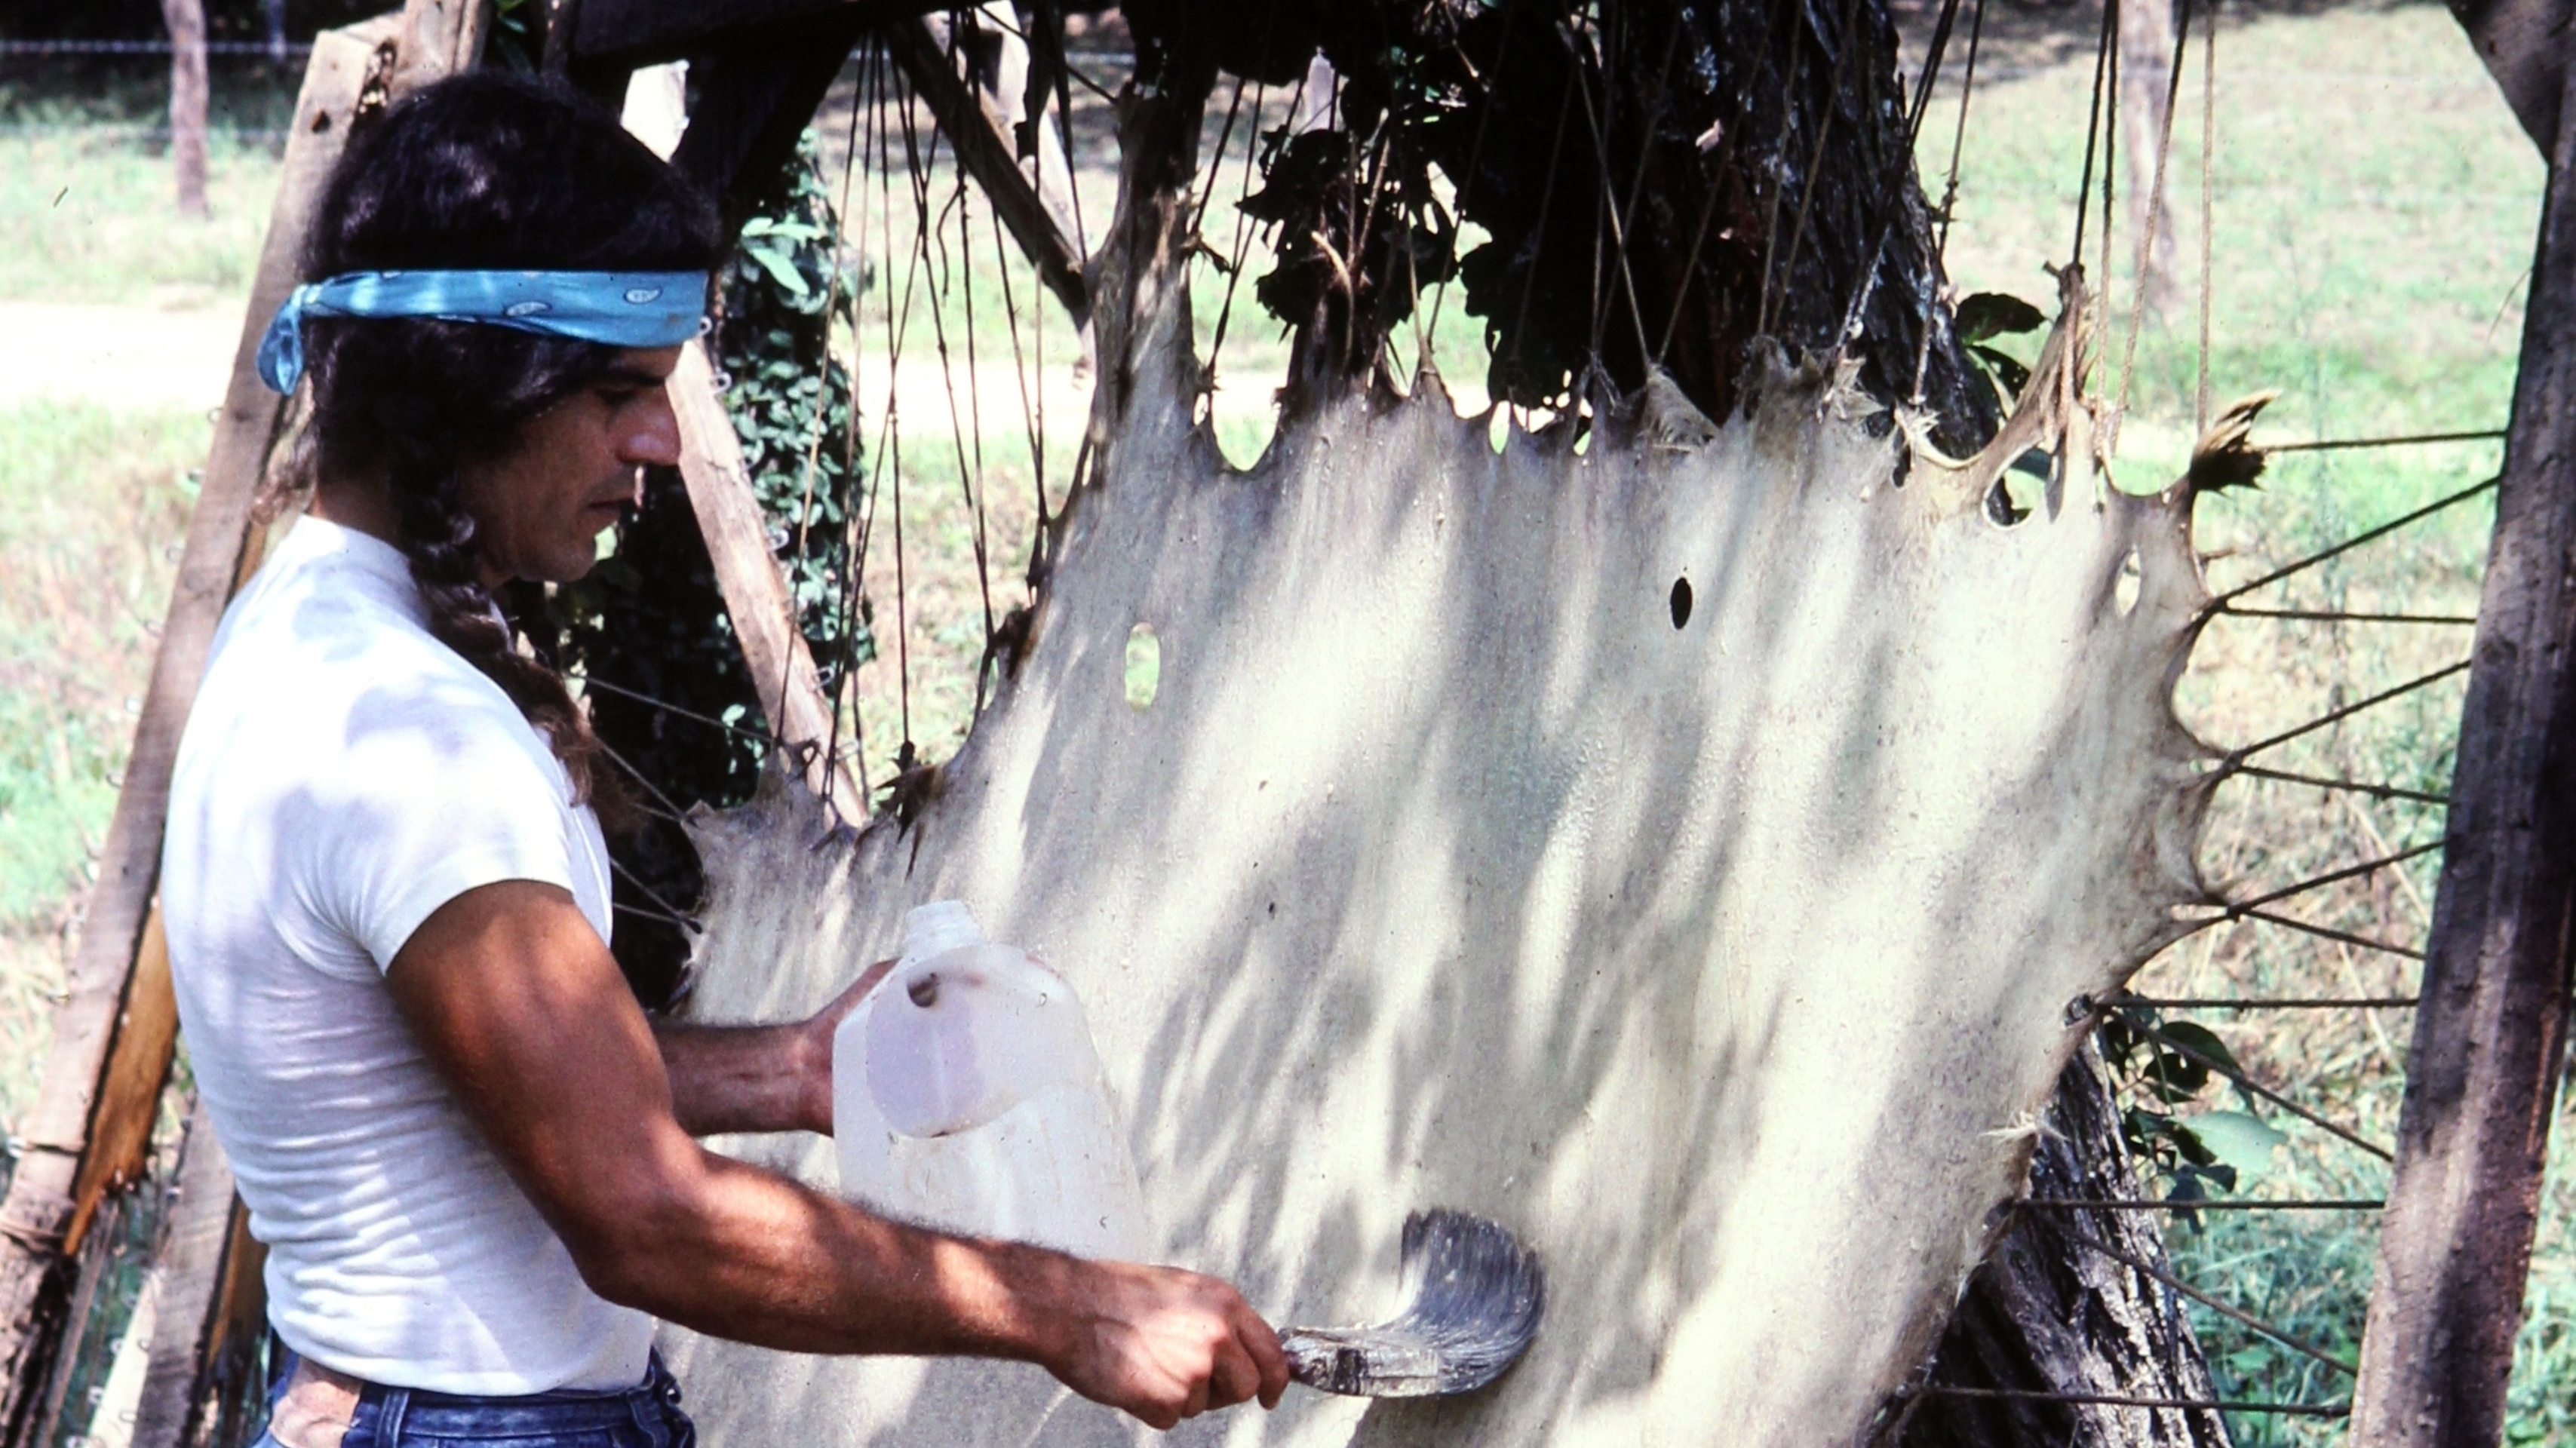
<svg viewBox="0 0 2576 1448">
<path fill-rule="evenodd" d="M 270 1391 L 286 1389 L 281 1368 Z M 448 1396 L 366 1384 L 340 1448 L 696 1448 L 698 1430 L 680 1412 L 680 1384 L 662 1355 L 631 1389 L 526 1396 Z M 260 1433 L 252 1448 L 278 1448 Z"/>
</svg>

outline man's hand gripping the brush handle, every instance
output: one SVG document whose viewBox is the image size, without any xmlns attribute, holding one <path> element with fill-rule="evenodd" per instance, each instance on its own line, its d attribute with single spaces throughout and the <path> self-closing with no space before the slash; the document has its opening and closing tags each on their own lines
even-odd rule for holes
<svg viewBox="0 0 2576 1448">
<path fill-rule="evenodd" d="M 1200 1412 L 1288 1391 L 1280 1337 L 1216 1278 L 1180 1268 L 1084 1262 L 1064 1304 L 1069 1337 L 1048 1371 L 1077 1394 L 1164 1430 Z"/>
</svg>

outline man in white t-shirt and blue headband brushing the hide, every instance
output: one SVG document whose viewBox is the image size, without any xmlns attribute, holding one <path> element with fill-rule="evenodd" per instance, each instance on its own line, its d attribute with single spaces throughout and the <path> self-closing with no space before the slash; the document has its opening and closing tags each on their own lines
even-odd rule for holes
<svg viewBox="0 0 2576 1448">
<path fill-rule="evenodd" d="M 198 1090 L 268 1242 L 283 1448 L 688 1443 L 654 1319 L 1046 1366 L 1144 1422 L 1288 1368 L 1234 1288 L 912 1229 L 708 1154 L 829 1131 L 832 1025 L 654 1028 L 608 953 L 616 791 L 492 590 L 582 577 L 721 232 L 616 121 L 459 77 L 332 178 L 263 374 L 312 510 L 224 616 L 162 902 Z"/>
</svg>

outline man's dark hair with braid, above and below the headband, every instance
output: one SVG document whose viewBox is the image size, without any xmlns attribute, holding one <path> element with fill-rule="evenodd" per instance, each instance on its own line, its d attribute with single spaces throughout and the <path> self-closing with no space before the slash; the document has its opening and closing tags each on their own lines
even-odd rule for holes
<svg viewBox="0 0 2576 1448">
<path fill-rule="evenodd" d="M 340 157 L 304 276 L 711 271 L 721 255 L 714 206 L 598 103 L 551 80 L 459 75 L 386 111 Z M 430 634 L 518 703 L 574 799 L 616 824 L 623 794 L 595 768 L 590 721 L 551 667 L 513 647 L 461 495 L 471 466 L 505 456 L 618 350 L 471 322 L 330 317 L 307 325 L 304 356 L 312 472 L 384 474 Z"/>
</svg>

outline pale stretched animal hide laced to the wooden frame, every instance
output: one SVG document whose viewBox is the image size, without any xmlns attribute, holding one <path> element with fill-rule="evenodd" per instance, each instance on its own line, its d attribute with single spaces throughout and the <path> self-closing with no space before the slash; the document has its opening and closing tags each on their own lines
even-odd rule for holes
<svg viewBox="0 0 2576 1448">
<path fill-rule="evenodd" d="M 1862 1440 L 2087 997 L 2208 899 L 2187 490 L 2099 484 L 2069 319 L 1965 464 L 1775 361 L 1723 425 L 1649 392 L 1497 448 L 1422 386 L 1236 472 L 1170 296 L 1030 652 L 917 817 L 832 835 L 773 781 L 701 822 L 693 1010 L 809 1013 L 956 897 L 1079 989 L 1164 1260 L 1370 1322 L 1412 1208 L 1543 1255 L 1497 1386 L 1291 1389 L 1188 1443 Z M 2002 526 L 2032 443 L 2061 477 Z M 726 1149 L 835 1180 L 822 1139 Z M 1144 1433 L 1025 1366 L 665 1350 L 711 1443 Z"/>
</svg>

